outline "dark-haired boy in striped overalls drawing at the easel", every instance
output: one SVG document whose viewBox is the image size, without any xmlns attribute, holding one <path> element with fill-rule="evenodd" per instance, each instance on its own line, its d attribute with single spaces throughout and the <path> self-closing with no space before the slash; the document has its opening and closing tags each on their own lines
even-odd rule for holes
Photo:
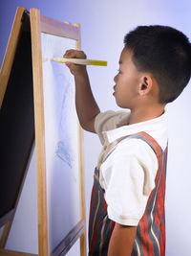
<svg viewBox="0 0 191 256">
<path fill-rule="evenodd" d="M 124 43 L 114 96 L 130 110 L 100 113 L 86 67 L 66 63 L 74 75 L 79 122 L 103 144 L 91 199 L 89 255 L 164 255 L 164 107 L 190 79 L 191 44 L 164 26 L 140 26 Z M 86 56 L 69 50 L 64 58 Z"/>
</svg>

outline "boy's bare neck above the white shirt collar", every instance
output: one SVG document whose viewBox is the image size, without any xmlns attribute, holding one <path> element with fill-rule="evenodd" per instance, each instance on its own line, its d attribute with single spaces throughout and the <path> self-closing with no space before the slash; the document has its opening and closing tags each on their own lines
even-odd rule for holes
<svg viewBox="0 0 191 256">
<path fill-rule="evenodd" d="M 148 121 L 159 117 L 164 112 L 165 105 L 152 105 L 150 107 L 140 107 L 131 109 L 129 125 L 137 124 L 140 122 Z"/>
</svg>

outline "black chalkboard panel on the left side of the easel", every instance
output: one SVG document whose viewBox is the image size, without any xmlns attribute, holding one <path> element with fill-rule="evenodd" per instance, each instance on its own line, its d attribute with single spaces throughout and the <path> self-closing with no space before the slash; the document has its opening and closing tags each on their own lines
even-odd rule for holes
<svg viewBox="0 0 191 256">
<path fill-rule="evenodd" d="M 14 208 L 33 138 L 32 41 L 22 31 L 0 109 L 0 219 Z"/>
</svg>

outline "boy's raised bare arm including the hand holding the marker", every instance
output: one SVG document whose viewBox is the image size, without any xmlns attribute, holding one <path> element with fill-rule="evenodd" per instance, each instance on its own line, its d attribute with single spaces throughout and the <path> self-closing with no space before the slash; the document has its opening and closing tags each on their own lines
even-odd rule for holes
<svg viewBox="0 0 191 256">
<path fill-rule="evenodd" d="M 64 58 L 86 58 L 82 51 L 68 50 Z M 79 123 L 82 128 L 96 132 L 95 119 L 100 112 L 93 96 L 88 73 L 85 65 L 77 65 L 72 62 L 66 62 L 75 81 L 75 106 Z"/>
</svg>

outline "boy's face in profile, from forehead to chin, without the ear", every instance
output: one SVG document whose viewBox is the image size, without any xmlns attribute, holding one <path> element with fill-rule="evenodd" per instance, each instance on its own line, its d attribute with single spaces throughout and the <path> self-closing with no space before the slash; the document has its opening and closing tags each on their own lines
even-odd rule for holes
<svg viewBox="0 0 191 256">
<path fill-rule="evenodd" d="M 138 86 L 140 84 L 140 75 L 137 67 L 132 60 L 132 52 L 125 47 L 120 55 L 119 70 L 114 78 L 114 96 L 117 105 L 123 108 L 134 108 L 138 100 Z"/>
</svg>

